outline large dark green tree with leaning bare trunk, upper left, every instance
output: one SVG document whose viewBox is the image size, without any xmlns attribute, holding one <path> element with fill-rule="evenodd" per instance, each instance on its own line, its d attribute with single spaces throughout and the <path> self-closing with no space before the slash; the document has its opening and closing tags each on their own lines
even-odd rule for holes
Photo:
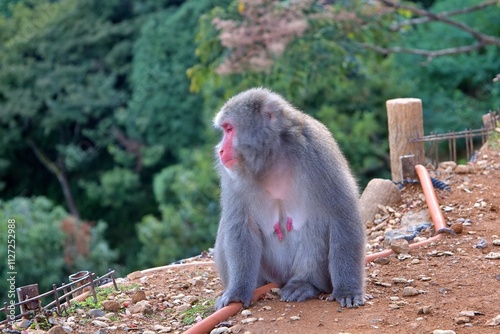
<svg viewBox="0 0 500 334">
<path fill-rule="evenodd" d="M 123 254 L 138 245 L 134 221 L 156 210 L 140 172 L 142 151 L 157 150 L 117 121 L 141 24 L 130 4 L 35 0 L 0 21 L 2 196 L 43 194 L 75 217 L 103 218 Z"/>
</svg>

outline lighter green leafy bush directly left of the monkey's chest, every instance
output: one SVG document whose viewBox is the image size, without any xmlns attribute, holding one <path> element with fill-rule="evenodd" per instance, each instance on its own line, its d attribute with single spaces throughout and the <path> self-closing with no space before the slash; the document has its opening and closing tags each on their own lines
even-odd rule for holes
<svg viewBox="0 0 500 334">
<path fill-rule="evenodd" d="M 181 151 L 179 164 L 155 176 L 161 218 L 137 225 L 140 262 L 160 266 L 212 247 L 219 219 L 219 186 L 211 147 Z"/>
</svg>

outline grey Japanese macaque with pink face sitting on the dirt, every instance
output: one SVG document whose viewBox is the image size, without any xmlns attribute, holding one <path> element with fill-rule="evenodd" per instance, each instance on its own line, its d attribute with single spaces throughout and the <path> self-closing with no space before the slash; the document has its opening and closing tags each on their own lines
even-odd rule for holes
<svg viewBox="0 0 500 334">
<path fill-rule="evenodd" d="M 224 293 L 248 307 L 256 287 L 278 284 L 283 301 L 331 293 L 365 303 L 365 229 L 349 166 L 327 128 L 280 95 L 254 88 L 215 116 L 221 221 L 215 262 Z"/>
</svg>

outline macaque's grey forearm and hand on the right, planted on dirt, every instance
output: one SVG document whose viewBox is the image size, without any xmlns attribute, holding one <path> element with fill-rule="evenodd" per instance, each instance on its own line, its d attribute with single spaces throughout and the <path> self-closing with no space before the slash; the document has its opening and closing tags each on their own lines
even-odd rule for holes
<svg viewBox="0 0 500 334">
<path fill-rule="evenodd" d="M 340 222 L 337 222 L 337 225 L 339 224 Z M 340 226 L 330 230 L 328 261 L 333 292 L 329 300 L 337 300 L 342 307 L 365 304 L 363 233 L 364 231 L 356 226 Z"/>
</svg>

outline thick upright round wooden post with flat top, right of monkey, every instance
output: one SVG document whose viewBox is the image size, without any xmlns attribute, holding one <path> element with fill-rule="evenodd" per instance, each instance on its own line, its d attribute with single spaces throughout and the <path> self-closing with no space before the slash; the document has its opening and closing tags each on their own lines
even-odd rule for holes
<svg viewBox="0 0 500 334">
<path fill-rule="evenodd" d="M 386 107 L 392 180 L 400 182 L 403 181 L 401 156 L 414 155 L 415 164 L 425 163 L 424 143 L 411 142 L 412 139 L 424 136 L 422 100 L 388 100 Z"/>
</svg>

